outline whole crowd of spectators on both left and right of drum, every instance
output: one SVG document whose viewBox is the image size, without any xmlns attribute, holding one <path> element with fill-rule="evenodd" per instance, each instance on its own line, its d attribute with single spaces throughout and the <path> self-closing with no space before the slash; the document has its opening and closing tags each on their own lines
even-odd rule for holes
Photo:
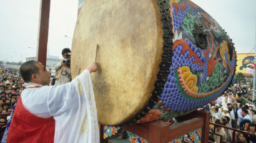
<svg viewBox="0 0 256 143">
<path fill-rule="evenodd" d="M 24 81 L 19 70 L 0 67 L 0 113 L 11 113 L 14 104 L 24 90 Z M 249 85 L 234 84 L 219 98 L 204 106 L 210 111 L 210 121 L 226 127 L 239 129 L 256 135 L 256 100 L 252 100 L 252 89 Z M 0 116 L 0 123 L 4 122 Z M 214 127 L 210 126 L 214 131 Z M 215 133 L 223 136 L 224 141 L 232 142 L 232 131 L 216 127 Z M 220 142 L 220 136 L 210 135 L 214 142 Z M 236 142 L 256 142 L 255 136 L 237 133 Z"/>
</svg>

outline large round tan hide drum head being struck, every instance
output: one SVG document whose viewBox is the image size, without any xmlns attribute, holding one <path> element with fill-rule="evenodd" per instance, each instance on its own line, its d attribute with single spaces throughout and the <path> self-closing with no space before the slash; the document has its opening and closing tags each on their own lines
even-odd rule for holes
<svg viewBox="0 0 256 143">
<path fill-rule="evenodd" d="M 72 79 L 91 73 L 100 124 L 122 124 L 147 104 L 157 80 L 163 30 L 155 1 L 85 1 L 72 41 Z"/>
</svg>

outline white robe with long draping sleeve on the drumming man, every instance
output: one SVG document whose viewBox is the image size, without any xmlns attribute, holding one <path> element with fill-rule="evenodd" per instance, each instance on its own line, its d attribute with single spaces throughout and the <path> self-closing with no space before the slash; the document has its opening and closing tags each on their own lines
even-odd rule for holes
<svg viewBox="0 0 256 143">
<path fill-rule="evenodd" d="M 34 83 L 27 84 L 34 86 Z M 54 142 L 99 142 L 97 110 L 90 72 L 64 85 L 27 88 L 23 106 L 41 118 L 55 119 Z"/>
</svg>

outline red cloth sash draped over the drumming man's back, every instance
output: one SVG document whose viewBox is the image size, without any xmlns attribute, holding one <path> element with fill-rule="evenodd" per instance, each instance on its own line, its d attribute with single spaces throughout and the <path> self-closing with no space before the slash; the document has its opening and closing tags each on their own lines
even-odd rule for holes
<svg viewBox="0 0 256 143">
<path fill-rule="evenodd" d="M 19 98 L 7 134 L 7 142 L 54 142 L 54 131 L 54 118 L 39 118 L 29 113 Z"/>
</svg>

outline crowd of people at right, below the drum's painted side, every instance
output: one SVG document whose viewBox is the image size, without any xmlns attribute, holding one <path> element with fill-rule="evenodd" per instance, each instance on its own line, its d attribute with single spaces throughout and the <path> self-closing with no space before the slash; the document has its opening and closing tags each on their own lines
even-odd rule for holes
<svg viewBox="0 0 256 143">
<path fill-rule="evenodd" d="M 210 121 L 256 135 L 256 100 L 252 100 L 252 92 L 249 85 L 234 84 L 228 88 L 219 98 L 204 106 L 210 111 Z M 211 125 L 210 129 L 214 131 L 214 126 Z M 219 126 L 215 133 L 222 135 L 224 141 L 232 142 L 231 129 Z M 210 134 L 210 139 L 220 142 L 220 136 Z M 237 132 L 235 142 L 256 142 L 256 137 Z"/>
</svg>

